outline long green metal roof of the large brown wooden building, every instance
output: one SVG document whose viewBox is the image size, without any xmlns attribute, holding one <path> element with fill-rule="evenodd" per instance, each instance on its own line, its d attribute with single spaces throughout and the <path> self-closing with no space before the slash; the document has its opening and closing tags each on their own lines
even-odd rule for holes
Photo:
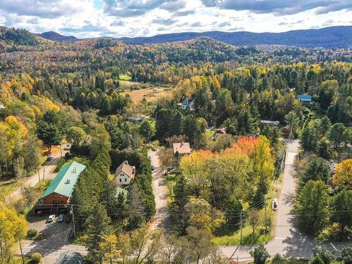
<svg viewBox="0 0 352 264">
<path fill-rule="evenodd" d="M 44 194 L 40 198 L 44 198 L 50 194 L 56 193 L 66 197 L 70 197 L 73 191 L 73 187 L 78 179 L 78 176 L 86 168 L 85 165 L 73 161 L 63 165 L 58 175 L 51 181 L 50 185 L 44 191 Z"/>
</svg>

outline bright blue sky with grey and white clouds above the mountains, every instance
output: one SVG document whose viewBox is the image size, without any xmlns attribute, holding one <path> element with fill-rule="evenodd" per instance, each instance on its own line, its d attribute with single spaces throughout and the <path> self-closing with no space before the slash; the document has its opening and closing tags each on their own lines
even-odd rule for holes
<svg viewBox="0 0 352 264">
<path fill-rule="evenodd" d="M 351 0 L 1 0 L 0 25 L 75 37 L 352 25 Z"/>
</svg>

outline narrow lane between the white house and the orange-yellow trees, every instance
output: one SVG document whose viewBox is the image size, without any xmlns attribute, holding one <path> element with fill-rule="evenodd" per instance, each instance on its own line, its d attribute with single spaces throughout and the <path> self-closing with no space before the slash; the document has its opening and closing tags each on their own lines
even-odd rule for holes
<svg viewBox="0 0 352 264">
<path fill-rule="evenodd" d="M 152 174 L 153 194 L 156 202 L 156 215 L 151 221 L 151 230 L 157 228 L 168 228 L 168 196 L 166 192 L 166 181 L 163 177 L 165 170 L 161 168 L 158 151 L 148 151 L 151 164 L 156 167 Z"/>
</svg>

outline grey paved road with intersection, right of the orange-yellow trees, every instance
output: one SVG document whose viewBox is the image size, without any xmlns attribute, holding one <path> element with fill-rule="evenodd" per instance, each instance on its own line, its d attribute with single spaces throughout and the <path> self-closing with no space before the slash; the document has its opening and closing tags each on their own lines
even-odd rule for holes
<svg viewBox="0 0 352 264">
<path fill-rule="evenodd" d="M 330 251 L 334 251 L 334 247 L 342 249 L 344 246 L 351 244 L 322 244 L 311 237 L 298 232 L 296 229 L 296 219 L 291 215 L 291 210 L 294 208 L 294 197 L 296 196 L 296 181 L 294 178 L 294 158 L 298 154 L 299 142 L 292 140 L 287 144 L 287 158 L 282 177 L 282 188 L 278 198 L 278 207 L 275 219 L 275 237 L 265 245 L 271 256 L 280 253 L 286 258 L 310 258 L 314 246 L 325 246 Z M 225 257 L 230 258 L 237 246 L 223 246 L 221 251 Z M 251 260 L 249 255 L 251 246 L 239 246 L 239 249 L 234 254 L 239 260 Z"/>
</svg>

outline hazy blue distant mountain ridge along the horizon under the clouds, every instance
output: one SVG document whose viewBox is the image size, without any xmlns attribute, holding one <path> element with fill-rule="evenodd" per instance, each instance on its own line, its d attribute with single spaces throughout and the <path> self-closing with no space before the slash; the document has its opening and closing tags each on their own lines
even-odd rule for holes
<svg viewBox="0 0 352 264">
<path fill-rule="evenodd" d="M 56 32 L 44 32 L 39 36 L 46 39 L 75 42 L 79 39 L 65 37 Z M 109 38 L 120 40 L 127 44 L 153 44 L 165 42 L 182 42 L 197 37 L 210 37 L 234 46 L 245 45 L 290 45 L 290 46 L 323 46 L 329 48 L 347 48 L 352 46 L 352 25 L 325 27 L 318 30 L 291 30 L 281 33 L 253 33 L 253 32 L 182 32 L 158 34 L 153 37 L 122 37 Z M 106 37 L 104 37 L 106 38 Z"/>
</svg>

